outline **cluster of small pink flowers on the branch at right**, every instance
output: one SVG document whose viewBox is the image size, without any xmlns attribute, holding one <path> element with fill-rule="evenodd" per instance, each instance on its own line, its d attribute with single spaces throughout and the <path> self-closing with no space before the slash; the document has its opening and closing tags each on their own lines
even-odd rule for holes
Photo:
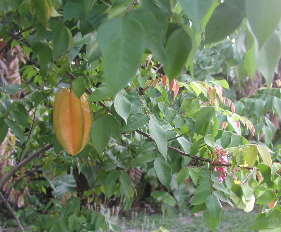
<svg viewBox="0 0 281 232">
<path fill-rule="evenodd" d="M 216 150 L 214 154 L 211 154 L 214 157 L 214 162 L 213 163 L 222 163 L 222 164 L 227 164 L 229 161 L 227 160 L 227 150 L 222 150 L 219 145 L 216 146 Z M 215 158 L 215 155 L 217 158 Z M 224 166 L 215 166 L 214 171 L 218 172 L 220 174 L 219 180 L 220 183 L 222 183 L 227 175 L 227 167 Z"/>
</svg>

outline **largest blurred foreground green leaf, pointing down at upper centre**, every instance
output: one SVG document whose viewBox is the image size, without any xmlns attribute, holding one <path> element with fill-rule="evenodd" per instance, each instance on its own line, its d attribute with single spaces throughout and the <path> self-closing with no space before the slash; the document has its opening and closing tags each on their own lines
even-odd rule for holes
<svg viewBox="0 0 281 232">
<path fill-rule="evenodd" d="M 98 43 L 105 80 L 114 96 L 136 75 L 144 52 L 144 32 L 136 20 L 113 18 L 99 27 Z"/>
</svg>

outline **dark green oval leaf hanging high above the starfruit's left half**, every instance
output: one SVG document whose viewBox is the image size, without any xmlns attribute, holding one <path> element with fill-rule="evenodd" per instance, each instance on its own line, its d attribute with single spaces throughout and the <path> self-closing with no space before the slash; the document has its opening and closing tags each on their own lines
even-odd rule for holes
<svg viewBox="0 0 281 232">
<path fill-rule="evenodd" d="M 53 37 L 53 50 L 52 56 L 55 60 L 59 56 L 61 56 L 64 52 L 66 52 L 68 48 L 68 33 L 65 28 L 61 28 L 57 30 Z"/>
</svg>

